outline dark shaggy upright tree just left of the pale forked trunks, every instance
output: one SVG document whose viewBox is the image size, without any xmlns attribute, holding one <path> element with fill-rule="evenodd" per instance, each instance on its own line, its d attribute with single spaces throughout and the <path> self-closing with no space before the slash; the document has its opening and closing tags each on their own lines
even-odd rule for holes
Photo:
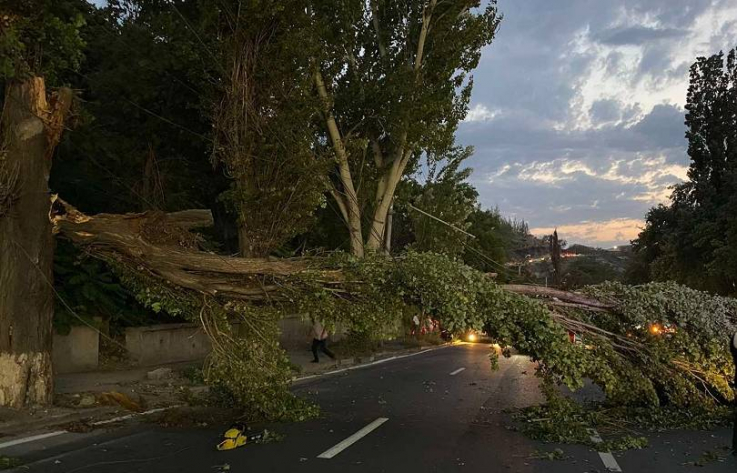
<svg viewBox="0 0 737 473">
<path fill-rule="evenodd" d="M 218 2 L 224 64 L 213 160 L 231 179 L 241 256 L 266 256 L 307 229 L 325 192 L 316 159 L 303 0 Z"/>
</svg>

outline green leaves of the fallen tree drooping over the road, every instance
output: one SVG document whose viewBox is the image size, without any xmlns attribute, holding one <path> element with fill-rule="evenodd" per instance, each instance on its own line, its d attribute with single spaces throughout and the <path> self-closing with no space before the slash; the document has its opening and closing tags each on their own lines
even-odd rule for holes
<svg viewBox="0 0 737 473">
<path fill-rule="evenodd" d="M 416 311 L 452 332 L 485 329 L 499 344 L 537 361 L 538 374 L 548 383 L 576 389 L 591 379 L 615 406 L 707 412 L 733 398 L 734 367 L 723 340 L 734 329 L 737 303 L 731 299 L 676 284 L 607 283 L 586 292 L 615 302 L 614 312 L 562 309 L 570 319 L 627 337 L 639 347 L 633 350 L 595 335 L 586 335 L 583 344 L 570 343 L 567 330 L 541 302 L 505 291 L 446 256 L 409 252 L 392 260 L 338 254 L 315 263 L 319 266 L 280 280 L 289 302 L 267 305 L 203 301 L 154 280 L 136 282 L 141 275 L 130 270 L 124 280 L 137 285 L 139 300 L 148 306 L 159 304 L 201 320 L 216 346 L 208 380 L 264 415 L 292 412 L 289 364 L 276 341 L 276 320 L 286 311 L 379 336 L 396 333 Z M 340 289 L 323 284 L 324 272 L 335 270 L 343 275 Z M 247 327 L 245 338 L 235 336 L 234 322 Z M 660 333 L 651 330 L 656 324 Z M 303 408 L 296 410 L 298 416 L 304 415 Z"/>
</svg>

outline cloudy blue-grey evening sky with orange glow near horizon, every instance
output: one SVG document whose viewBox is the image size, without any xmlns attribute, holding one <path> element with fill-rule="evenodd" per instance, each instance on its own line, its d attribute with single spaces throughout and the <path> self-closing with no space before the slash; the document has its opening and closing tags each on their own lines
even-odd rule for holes
<svg viewBox="0 0 737 473">
<path fill-rule="evenodd" d="M 499 0 L 459 141 L 484 207 L 533 233 L 627 243 L 688 167 L 700 55 L 737 46 L 735 0 Z"/>
</svg>

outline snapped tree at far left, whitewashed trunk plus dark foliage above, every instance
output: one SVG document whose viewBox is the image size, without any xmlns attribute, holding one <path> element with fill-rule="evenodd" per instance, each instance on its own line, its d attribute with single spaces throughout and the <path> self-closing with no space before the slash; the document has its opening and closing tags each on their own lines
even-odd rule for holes
<svg viewBox="0 0 737 473">
<path fill-rule="evenodd" d="M 48 179 L 72 92 L 47 94 L 44 76 L 78 64 L 83 11 L 73 0 L 21 1 L 0 17 L 0 406 L 48 404 L 53 394 Z"/>
</svg>

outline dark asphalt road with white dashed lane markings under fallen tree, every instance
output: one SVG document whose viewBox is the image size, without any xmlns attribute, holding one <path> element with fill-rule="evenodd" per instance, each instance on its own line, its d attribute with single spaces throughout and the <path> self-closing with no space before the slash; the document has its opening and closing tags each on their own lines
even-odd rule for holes
<svg viewBox="0 0 737 473">
<path fill-rule="evenodd" d="M 286 435 L 277 443 L 218 452 L 227 426 L 139 424 L 0 454 L 30 462 L 17 471 L 43 473 L 737 471 L 726 449 L 731 429 L 651 435 L 649 448 L 609 458 L 531 441 L 510 430 L 505 410 L 540 401 L 534 368 L 514 356 L 492 372 L 488 350 L 452 346 L 304 382 L 295 390 L 318 402 L 323 416 L 275 426 Z M 535 458 L 555 448 L 563 460 Z M 705 466 L 694 466 L 699 460 Z"/>
</svg>

